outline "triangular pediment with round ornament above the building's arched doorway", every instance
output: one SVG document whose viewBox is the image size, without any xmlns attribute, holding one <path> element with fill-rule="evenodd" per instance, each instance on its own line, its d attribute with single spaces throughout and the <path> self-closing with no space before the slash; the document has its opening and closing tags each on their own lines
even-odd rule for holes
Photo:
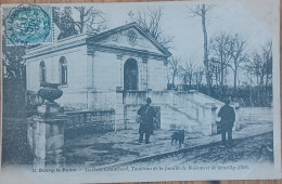
<svg viewBox="0 0 282 184">
<path fill-rule="evenodd" d="M 127 24 L 88 38 L 89 45 L 106 47 L 111 49 L 146 52 L 151 54 L 170 56 L 170 52 L 149 34 L 144 32 L 136 23 Z"/>
</svg>

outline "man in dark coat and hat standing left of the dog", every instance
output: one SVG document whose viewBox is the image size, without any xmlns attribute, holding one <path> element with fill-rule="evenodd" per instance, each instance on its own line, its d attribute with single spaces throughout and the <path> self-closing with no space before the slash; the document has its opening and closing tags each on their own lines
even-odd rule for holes
<svg viewBox="0 0 282 184">
<path fill-rule="evenodd" d="M 151 98 L 146 98 L 146 104 L 138 110 L 138 115 L 141 116 L 140 127 L 139 127 L 139 143 L 142 143 L 143 135 L 145 134 L 145 144 L 149 144 L 150 135 L 153 134 L 154 124 L 153 117 L 156 113 L 153 107 L 150 106 Z"/>
</svg>

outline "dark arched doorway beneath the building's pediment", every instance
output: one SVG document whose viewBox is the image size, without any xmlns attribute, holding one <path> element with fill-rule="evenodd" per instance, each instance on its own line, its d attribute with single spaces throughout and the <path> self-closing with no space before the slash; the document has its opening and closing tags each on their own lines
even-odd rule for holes
<svg viewBox="0 0 282 184">
<path fill-rule="evenodd" d="M 124 89 L 138 90 L 138 65 L 134 58 L 128 58 L 125 63 Z"/>
</svg>

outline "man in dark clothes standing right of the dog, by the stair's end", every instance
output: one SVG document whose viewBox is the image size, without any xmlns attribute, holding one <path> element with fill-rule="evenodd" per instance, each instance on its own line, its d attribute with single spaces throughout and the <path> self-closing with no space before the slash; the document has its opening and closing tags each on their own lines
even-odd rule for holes
<svg viewBox="0 0 282 184">
<path fill-rule="evenodd" d="M 235 121 L 235 111 L 234 108 L 231 107 L 230 101 L 226 100 L 226 105 L 222 106 L 218 113 L 218 117 L 221 117 L 221 139 L 222 146 L 232 146 L 232 128 Z M 228 133 L 228 144 L 226 139 L 226 133 Z"/>
</svg>

